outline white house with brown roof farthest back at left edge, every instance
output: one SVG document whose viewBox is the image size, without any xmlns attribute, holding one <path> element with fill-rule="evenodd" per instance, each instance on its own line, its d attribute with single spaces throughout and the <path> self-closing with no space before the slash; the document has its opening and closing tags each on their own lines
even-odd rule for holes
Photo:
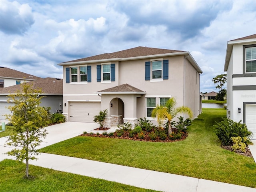
<svg viewBox="0 0 256 192">
<path fill-rule="evenodd" d="M 26 74 L 14 69 L 0 66 L 0 89 L 13 85 L 18 85 L 24 81 L 30 82 L 41 79 L 40 77 Z"/>
</svg>

